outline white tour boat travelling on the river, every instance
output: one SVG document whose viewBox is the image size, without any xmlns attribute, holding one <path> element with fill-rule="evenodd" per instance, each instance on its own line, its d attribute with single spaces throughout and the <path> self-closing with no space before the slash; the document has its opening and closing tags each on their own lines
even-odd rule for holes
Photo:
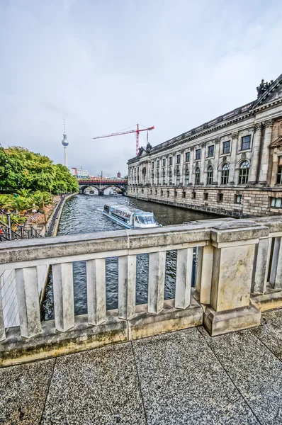
<svg viewBox="0 0 282 425">
<path fill-rule="evenodd" d="M 104 205 L 103 214 L 110 217 L 123 227 L 128 229 L 147 229 L 147 227 L 158 227 L 154 220 L 154 212 L 146 212 L 125 205 Z"/>
</svg>

